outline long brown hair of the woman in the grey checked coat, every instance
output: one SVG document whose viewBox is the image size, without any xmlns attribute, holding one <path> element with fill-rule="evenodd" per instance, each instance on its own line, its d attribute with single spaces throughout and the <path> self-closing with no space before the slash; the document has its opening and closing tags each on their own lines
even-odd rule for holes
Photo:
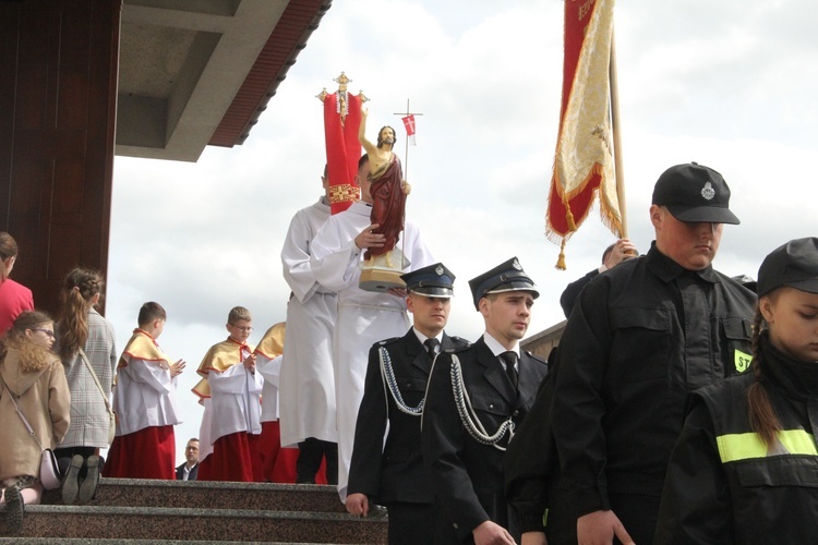
<svg viewBox="0 0 818 545">
<path fill-rule="evenodd" d="M 88 313 L 94 296 L 101 294 L 103 286 L 103 276 L 94 269 L 76 267 L 65 277 L 60 292 L 60 319 L 57 323 L 63 363 L 88 340 Z"/>
</svg>

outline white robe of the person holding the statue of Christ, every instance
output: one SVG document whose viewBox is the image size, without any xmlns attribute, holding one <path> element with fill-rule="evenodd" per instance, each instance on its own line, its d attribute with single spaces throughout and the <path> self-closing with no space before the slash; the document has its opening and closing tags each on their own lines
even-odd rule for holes
<svg viewBox="0 0 818 545">
<path fill-rule="evenodd" d="M 333 361 L 338 413 L 338 493 L 341 500 L 347 496 L 356 420 L 363 397 L 369 350 L 380 340 L 404 336 L 410 326 L 405 299 L 364 291 L 358 287 L 363 251 L 356 245 L 354 238 L 370 225 L 371 210 L 366 203 L 357 202 L 347 210 L 332 216 L 315 237 L 310 259 L 321 286 L 338 293 Z M 407 271 L 435 263 L 418 228 L 409 221 L 398 239 L 397 247 L 411 263 Z"/>
</svg>

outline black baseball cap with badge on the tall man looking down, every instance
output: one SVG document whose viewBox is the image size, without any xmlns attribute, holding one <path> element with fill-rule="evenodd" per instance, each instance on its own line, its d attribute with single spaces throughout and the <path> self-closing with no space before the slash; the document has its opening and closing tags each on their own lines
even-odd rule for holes
<svg viewBox="0 0 818 545">
<path fill-rule="evenodd" d="M 654 205 L 665 206 L 679 221 L 686 223 L 733 223 L 738 218 L 730 211 L 730 187 L 715 170 L 688 162 L 671 167 L 653 186 Z"/>
</svg>

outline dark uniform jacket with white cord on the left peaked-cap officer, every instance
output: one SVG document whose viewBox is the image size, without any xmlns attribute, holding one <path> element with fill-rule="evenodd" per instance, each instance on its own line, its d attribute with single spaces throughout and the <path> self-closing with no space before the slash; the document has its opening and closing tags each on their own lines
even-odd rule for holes
<svg viewBox="0 0 818 545">
<path fill-rule="evenodd" d="M 468 344 L 468 341 L 444 332 L 441 350 Z M 382 347 L 389 353 L 398 389 L 407 407 L 418 407 L 423 399 L 432 370 L 432 359 L 413 328 L 404 337 L 372 346 L 358 410 L 348 493 L 365 494 L 380 504 L 431 504 L 434 492 L 420 452 L 420 417 L 400 411 L 388 392 L 381 375 Z M 387 420 L 389 435 L 384 445 Z"/>
</svg>

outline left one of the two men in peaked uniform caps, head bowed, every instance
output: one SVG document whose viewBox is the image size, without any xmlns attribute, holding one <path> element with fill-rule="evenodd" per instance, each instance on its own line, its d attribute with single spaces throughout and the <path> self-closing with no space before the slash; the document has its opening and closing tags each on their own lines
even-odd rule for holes
<svg viewBox="0 0 818 545">
<path fill-rule="evenodd" d="M 455 275 L 442 263 L 401 275 L 414 325 L 404 337 L 370 350 L 358 411 L 347 510 L 366 517 L 371 502 L 388 508 L 389 544 L 431 543 L 434 491 L 420 452 L 420 415 L 432 362 L 441 350 L 468 341 L 443 330 Z M 389 431 L 384 443 L 388 423 Z"/>
</svg>

